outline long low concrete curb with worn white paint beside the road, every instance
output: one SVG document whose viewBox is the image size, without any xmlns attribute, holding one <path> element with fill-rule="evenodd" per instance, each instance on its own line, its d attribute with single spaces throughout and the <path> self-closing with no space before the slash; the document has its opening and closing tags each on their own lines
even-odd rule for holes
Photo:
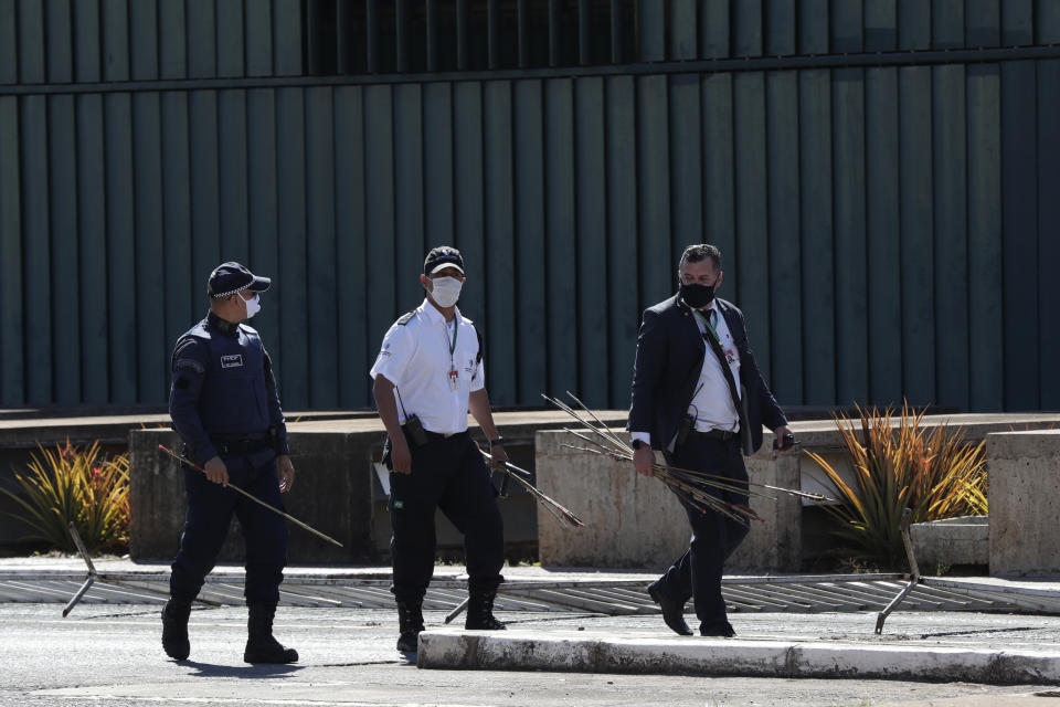
<svg viewBox="0 0 1060 707">
<path fill-rule="evenodd" d="M 582 632 L 420 634 L 422 668 L 650 673 L 742 677 L 890 678 L 988 684 L 1060 682 L 1060 650 L 593 636 Z"/>
</svg>

